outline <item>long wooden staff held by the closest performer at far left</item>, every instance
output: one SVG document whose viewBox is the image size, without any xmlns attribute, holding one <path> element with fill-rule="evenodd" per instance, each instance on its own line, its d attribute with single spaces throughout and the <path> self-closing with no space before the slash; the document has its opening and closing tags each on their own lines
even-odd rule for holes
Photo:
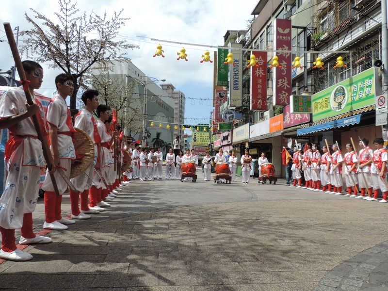
<svg viewBox="0 0 388 291">
<path fill-rule="evenodd" d="M 26 81 L 26 74 L 24 73 L 24 69 L 23 69 L 23 65 L 21 63 L 19 51 L 17 50 L 17 47 L 16 47 L 14 33 L 12 32 L 11 25 L 9 22 L 4 22 L 4 29 L 5 29 L 5 34 L 7 35 L 8 44 L 9 44 L 11 51 L 12 51 L 12 56 L 14 57 L 15 66 L 17 69 L 17 73 L 19 74 L 20 81 L 25 82 Z M 24 93 L 26 94 L 27 103 L 29 105 L 32 105 L 33 101 L 32 101 L 30 90 L 27 89 L 26 91 L 24 91 Z M 43 150 L 43 155 L 44 155 L 45 160 L 46 160 L 47 168 L 49 171 L 51 171 L 52 164 L 51 164 L 51 153 L 50 153 L 49 144 L 47 143 L 47 139 L 45 139 L 43 137 L 42 130 L 39 127 L 38 116 L 36 114 L 38 114 L 38 113 L 35 113 L 32 115 L 33 125 L 34 125 L 36 133 L 38 135 L 38 139 L 42 143 L 42 150 Z M 54 188 L 54 192 L 55 192 L 55 194 L 57 194 L 57 196 L 59 196 L 59 191 L 58 191 L 57 183 L 55 181 L 54 174 L 50 173 L 49 175 L 51 178 L 52 186 Z"/>
</svg>

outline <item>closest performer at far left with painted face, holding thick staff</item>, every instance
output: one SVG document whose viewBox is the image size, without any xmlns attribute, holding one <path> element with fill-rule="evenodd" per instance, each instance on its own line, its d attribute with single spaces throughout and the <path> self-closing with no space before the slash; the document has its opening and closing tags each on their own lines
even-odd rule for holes
<svg viewBox="0 0 388 291">
<path fill-rule="evenodd" d="M 43 106 L 33 93 L 42 85 L 43 68 L 32 61 L 24 61 L 22 65 L 30 82 L 6 91 L 0 98 L 0 129 L 8 128 L 10 131 L 4 155 L 7 178 L 0 197 L 0 258 L 15 261 L 32 259 L 31 254 L 16 248 L 15 229 L 21 230 L 21 244 L 51 242 L 50 238 L 35 235 L 32 231 L 32 212 L 38 200 L 40 169 L 45 166 L 42 144 L 30 118 L 35 113 L 48 142 Z M 32 105 L 27 104 L 23 87 L 32 93 Z"/>
</svg>

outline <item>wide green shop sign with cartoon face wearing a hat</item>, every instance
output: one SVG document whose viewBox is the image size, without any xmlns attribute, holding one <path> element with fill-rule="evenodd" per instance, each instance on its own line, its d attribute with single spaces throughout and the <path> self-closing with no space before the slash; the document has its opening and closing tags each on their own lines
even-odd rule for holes
<svg viewBox="0 0 388 291">
<path fill-rule="evenodd" d="M 312 96 L 313 121 L 374 104 L 374 68 L 339 82 Z"/>
</svg>

